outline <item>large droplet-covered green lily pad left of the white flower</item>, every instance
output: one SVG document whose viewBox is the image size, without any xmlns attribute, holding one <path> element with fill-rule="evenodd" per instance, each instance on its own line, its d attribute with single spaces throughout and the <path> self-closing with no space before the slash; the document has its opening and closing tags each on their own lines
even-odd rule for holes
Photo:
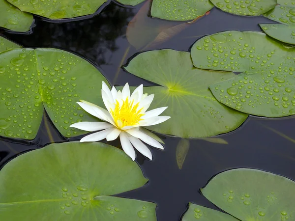
<svg viewBox="0 0 295 221">
<path fill-rule="evenodd" d="M 102 106 L 103 75 L 88 61 L 58 49 L 13 49 L 0 54 L 0 136 L 33 139 L 43 109 L 64 137 L 87 132 L 69 128 L 97 121 L 77 101 Z"/>
</svg>

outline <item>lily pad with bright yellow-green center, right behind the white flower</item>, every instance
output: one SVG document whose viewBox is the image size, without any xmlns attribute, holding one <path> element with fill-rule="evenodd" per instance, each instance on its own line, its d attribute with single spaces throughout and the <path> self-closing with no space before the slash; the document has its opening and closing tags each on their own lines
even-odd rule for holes
<svg viewBox="0 0 295 221">
<path fill-rule="evenodd" d="M 235 130 L 248 116 L 220 104 L 208 89 L 235 74 L 194 68 L 188 52 L 145 52 L 125 69 L 160 85 L 144 87 L 144 92 L 155 94 L 150 110 L 168 106 L 163 114 L 171 119 L 147 127 L 152 131 L 181 138 L 211 137 Z"/>
</svg>

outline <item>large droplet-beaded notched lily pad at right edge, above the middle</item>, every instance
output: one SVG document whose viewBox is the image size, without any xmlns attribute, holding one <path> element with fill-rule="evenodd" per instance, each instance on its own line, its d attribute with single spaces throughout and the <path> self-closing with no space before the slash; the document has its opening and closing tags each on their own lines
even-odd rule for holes
<svg viewBox="0 0 295 221">
<path fill-rule="evenodd" d="M 295 114 L 295 49 L 266 34 L 226 31 L 206 36 L 192 47 L 196 67 L 245 72 L 210 89 L 221 103 L 249 114 Z"/>
</svg>

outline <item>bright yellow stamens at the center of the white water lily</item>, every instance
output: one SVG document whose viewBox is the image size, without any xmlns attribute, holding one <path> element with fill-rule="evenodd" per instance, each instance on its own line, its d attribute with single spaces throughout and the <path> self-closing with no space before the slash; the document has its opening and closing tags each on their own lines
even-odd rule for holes
<svg viewBox="0 0 295 221">
<path fill-rule="evenodd" d="M 123 104 L 120 105 L 118 101 L 116 101 L 115 109 L 111 109 L 111 114 L 113 115 L 115 124 L 119 129 L 125 126 L 134 126 L 139 123 L 139 121 L 143 120 L 141 117 L 145 114 L 140 113 L 142 109 L 137 110 L 139 107 L 139 103 L 133 105 L 133 100 L 130 102 L 128 98 L 123 100 Z"/>
</svg>

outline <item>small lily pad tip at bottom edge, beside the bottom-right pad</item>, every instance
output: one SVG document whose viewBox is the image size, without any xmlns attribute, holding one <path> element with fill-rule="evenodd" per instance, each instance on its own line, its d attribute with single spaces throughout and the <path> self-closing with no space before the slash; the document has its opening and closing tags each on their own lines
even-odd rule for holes
<svg viewBox="0 0 295 221">
<path fill-rule="evenodd" d="M 238 221 L 235 217 L 228 214 L 189 203 L 188 211 L 181 221 L 195 221 L 196 219 L 202 221 Z"/>
</svg>

